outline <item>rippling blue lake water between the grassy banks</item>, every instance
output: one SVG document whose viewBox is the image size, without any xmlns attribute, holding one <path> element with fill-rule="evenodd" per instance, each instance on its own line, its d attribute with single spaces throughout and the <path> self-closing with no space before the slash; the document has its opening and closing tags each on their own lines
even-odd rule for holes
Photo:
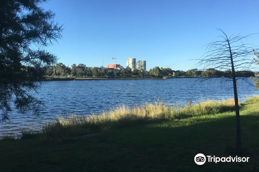
<svg viewBox="0 0 259 172">
<path fill-rule="evenodd" d="M 83 80 L 50 81 L 41 87 L 35 97 L 43 100 L 47 107 L 35 119 L 31 112 L 10 114 L 10 121 L 0 124 L 0 136 L 20 135 L 21 128 L 39 130 L 48 121 L 60 115 L 89 115 L 101 113 L 125 103 L 127 106 L 163 100 L 164 103 L 182 105 L 192 98 L 193 103 L 201 99 L 233 98 L 232 82 L 220 83 L 220 78 L 193 85 L 198 78 L 176 79 L 129 79 L 129 80 Z M 252 83 L 252 80 L 248 78 Z M 237 82 L 239 100 L 259 91 L 243 80 Z"/>
</svg>

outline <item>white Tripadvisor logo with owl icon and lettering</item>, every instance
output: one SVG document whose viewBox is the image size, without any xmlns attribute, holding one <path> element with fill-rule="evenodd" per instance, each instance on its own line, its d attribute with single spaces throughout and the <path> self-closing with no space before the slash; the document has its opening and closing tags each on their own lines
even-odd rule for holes
<svg viewBox="0 0 259 172">
<path fill-rule="evenodd" d="M 206 158 L 207 157 L 207 158 Z M 215 156 L 205 156 L 203 155 L 202 153 L 198 153 L 197 155 L 195 155 L 194 157 L 194 162 L 197 164 L 197 165 L 203 165 L 205 162 L 206 162 L 206 159 L 207 159 L 207 162 L 211 163 L 218 163 L 218 162 L 249 162 L 249 157 L 215 157 Z"/>
</svg>

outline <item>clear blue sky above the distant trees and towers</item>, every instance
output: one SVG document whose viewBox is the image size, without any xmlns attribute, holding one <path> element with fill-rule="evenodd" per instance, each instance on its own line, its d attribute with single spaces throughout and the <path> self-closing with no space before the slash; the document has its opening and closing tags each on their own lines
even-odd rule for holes
<svg viewBox="0 0 259 172">
<path fill-rule="evenodd" d="M 188 70 L 220 35 L 259 33 L 258 0 L 51 0 L 43 7 L 64 24 L 62 40 L 47 48 L 66 66 L 126 67 L 127 58 Z M 249 39 L 258 44 L 258 36 Z"/>
</svg>

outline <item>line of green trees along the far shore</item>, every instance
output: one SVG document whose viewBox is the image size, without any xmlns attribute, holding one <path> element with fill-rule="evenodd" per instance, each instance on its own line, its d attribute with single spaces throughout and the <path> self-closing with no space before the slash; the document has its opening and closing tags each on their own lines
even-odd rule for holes
<svg viewBox="0 0 259 172">
<path fill-rule="evenodd" d="M 69 68 L 66 67 L 62 63 L 56 64 L 56 66 L 53 66 L 54 69 L 56 69 L 56 73 L 64 76 L 64 75 L 74 75 L 74 72 Z M 53 75 L 53 71 L 47 70 L 46 71 L 47 76 Z M 225 70 L 225 71 L 219 71 L 216 69 L 207 69 L 205 71 L 201 71 L 198 69 L 190 69 L 188 71 L 174 71 L 171 68 L 159 68 L 154 67 L 153 69 L 150 69 L 149 71 L 144 71 L 143 69 L 137 70 L 134 69 L 131 70 L 108 70 L 105 69 L 98 69 L 94 68 L 88 69 L 87 72 L 84 72 L 82 69 L 78 69 L 77 76 L 83 77 L 151 77 L 151 78 L 161 78 L 161 77 L 229 77 L 231 76 L 231 70 Z M 254 73 L 251 71 L 236 71 L 237 77 L 254 77 Z"/>
</svg>

